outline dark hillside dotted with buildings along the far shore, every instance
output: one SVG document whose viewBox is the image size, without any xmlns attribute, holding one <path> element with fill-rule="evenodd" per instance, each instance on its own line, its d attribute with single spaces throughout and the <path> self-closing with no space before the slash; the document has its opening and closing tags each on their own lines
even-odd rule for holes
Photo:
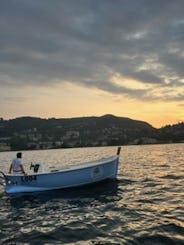
<svg viewBox="0 0 184 245">
<path fill-rule="evenodd" d="M 155 129 L 147 122 L 114 115 L 0 120 L 1 150 L 153 144 L 183 140 L 183 123 Z"/>
</svg>

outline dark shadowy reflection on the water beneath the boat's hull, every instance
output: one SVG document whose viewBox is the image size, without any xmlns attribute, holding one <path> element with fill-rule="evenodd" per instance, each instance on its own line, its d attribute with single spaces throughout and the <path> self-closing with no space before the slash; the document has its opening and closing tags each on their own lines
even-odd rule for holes
<svg viewBox="0 0 184 245">
<path fill-rule="evenodd" d="M 68 205 L 78 207 L 90 205 L 93 200 L 110 202 L 118 195 L 118 181 L 106 180 L 93 185 L 53 190 L 36 193 L 9 195 L 9 201 L 14 208 L 34 207 L 47 202 L 62 202 L 67 200 Z"/>
</svg>

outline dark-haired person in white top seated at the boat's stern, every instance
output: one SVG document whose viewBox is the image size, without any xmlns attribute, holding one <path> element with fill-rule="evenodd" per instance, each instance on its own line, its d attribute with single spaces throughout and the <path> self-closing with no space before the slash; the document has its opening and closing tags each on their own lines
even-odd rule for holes
<svg viewBox="0 0 184 245">
<path fill-rule="evenodd" d="M 12 160 L 12 163 L 10 165 L 9 174 L 12 172 L 13 174 L 25 174 L 24 166 L 23 166 L 23 160 L 22 160 L 22 152 L 17 153 L 17 157 Z"/>
</svg>

